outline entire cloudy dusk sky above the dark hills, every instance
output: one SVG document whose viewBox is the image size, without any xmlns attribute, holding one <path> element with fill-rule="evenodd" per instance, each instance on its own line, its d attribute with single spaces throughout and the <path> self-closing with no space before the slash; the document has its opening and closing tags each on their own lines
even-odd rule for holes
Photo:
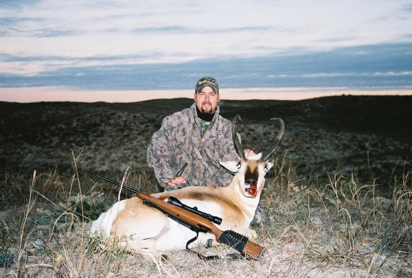
<svg viewBox="0 0 412 278">
<path fill-rule="evenodd" d="M 0 1 L 0 101 L 185 96 L 202 76 L 250 99 L 412 94 L 412 1 Z"/>
</svg>

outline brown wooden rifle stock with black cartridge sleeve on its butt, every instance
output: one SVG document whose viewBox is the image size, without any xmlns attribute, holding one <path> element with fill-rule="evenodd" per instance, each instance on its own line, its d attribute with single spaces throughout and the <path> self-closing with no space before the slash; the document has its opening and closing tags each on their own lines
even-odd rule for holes
<svg viewBox="0 0 412 278">
<path fill-rule="evenodd" d="M 244 255 L 258 258 L 264 250 L 262 246 L 249 241 L 249 239 L 244 235 L 240 235 L 240 233 L 230 230 L 222 231 L 218 229 L 218 227 L 216 227 L 210 220 L 207 220 L 192 211 L 177 207 L 144 192 L 137 192 L 136 196 L 143 200 L 146 205 L 152 205 L 163 211 L 163 213 L 166 213 L 172 219 L 176 221 L 179 220 L 178 222 L 184 222 L 187 227 L 194 227 L 199 231 L 209 231 L 213 233 L 218 242 L 229 244 Z"/>
</svg>

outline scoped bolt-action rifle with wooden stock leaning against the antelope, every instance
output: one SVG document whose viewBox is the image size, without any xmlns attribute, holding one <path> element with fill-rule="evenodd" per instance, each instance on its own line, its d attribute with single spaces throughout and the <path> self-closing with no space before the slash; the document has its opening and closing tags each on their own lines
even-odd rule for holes
<svg viewBox="0 0 412 278">
<path fill-rule="evenodd" d="M 124 185 L 122 186 L 120 183 L 111 181 L 110 179 L 104 178 L 103 176 L 96 176 L 98 178 L 102 178 L 102 180 L 107 181 L 108 183 L 123 187 L 124 189 L 135 193 L 138 198 L 143 200 L 144 204 L 150 207 L 154 207 L 155 209 L 159 209 L 159 211 L 165 213 L 165 215 L 169 218 L 172 218 L 176 222 L 179 222 L 179 224 L 182 224 L 183 226 L 196 232 L 196 237 L 187 242 L 186 248 L 187 245 L 190 244 L 190 242 L 196 240 L 199 232 L 203 232 L 213 233 L 218 242 L 228 244 L 229 246 L 242 253 L 242 255 L 247 255 L 254 259 L 258 258 L 264 250 L 262 246 L 249 241 L 247 237 L 241 235 L 240 233 L 236 233 L 235 231 L 231 230 L 222 231 L 218 229 L 218 227 L 216 227 L 212 222 L 220 224 L 220 222 L 222 222 L 221 218 L 211 216 L 208 213 L 204 213 L 202 211 L 198 211 L 196 207 L 188 207 L 187 205 L 184 205 L 182 202 L 180 202 L 177 198 L 171 196 L 168 199 L 168 202 L 165 202 L 164 200 L 155 198 L 144 192 L 139 192 Z"/>
</svg>

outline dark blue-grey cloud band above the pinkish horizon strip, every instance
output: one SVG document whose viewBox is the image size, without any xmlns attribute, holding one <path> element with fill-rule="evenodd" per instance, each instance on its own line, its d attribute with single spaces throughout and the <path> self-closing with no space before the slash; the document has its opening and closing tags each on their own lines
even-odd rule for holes
<svg viewBox="0 0 412 278">
<path fill-rule="evenodd" d="M 331 51 L 277 53 L 251 58 L 207 58 L 188 62 L 136 63 L 139 56 L 27 58 L 48 66 L 23 76 L 0 74 L 0 86 L 68 86 L 83 90 L 192 89 L 201 76 L 216 77 L 222 88 L 412 86 L 412 43 L 342 47 Z M 7 58 L 8 57 L 8 58 Z M 13 59 L 1 55 L 0 60 Z M 23 65 L 25 60 L 21 60 Z M 38 64 L 36 64 L 38 63 Z M 1 62 L 0 62 L 1 67 Z"/>
</svg>

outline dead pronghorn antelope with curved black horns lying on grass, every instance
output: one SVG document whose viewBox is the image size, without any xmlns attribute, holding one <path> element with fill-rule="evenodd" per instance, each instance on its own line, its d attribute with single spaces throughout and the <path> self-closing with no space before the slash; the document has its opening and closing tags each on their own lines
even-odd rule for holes
<svg viewBox="0 0 412 278">
<path fill-rule="evenodd" d="M 227 170 L 237 173 L 228 187 L 191 186 L 152 196 L 165 201 L 174 196 L 185 205 L 222 218 L 221 224 L 216 224 L 219 229 L 233 230 L 248 238 L 255 238 L 256 233 L 249 229 L 249 225 L 258 207 L 264 176 L 273 166 L 273 161 L 268 159 L 284 135 L 282 119 L 273 119 L 279 121 L 280 130 L 272 146 L 265 152 L 245 156 L 236 133 L 240 116 L 233 118 L 233 143 L 240 161 L 219 161 Z M 127 244 L 141 253 L 183 249 L 195 235 L 194 231 L 168 218 L 161 211 L 144 205 L 137 197 L 116 202 L 111 209 L 102 213 L 91 226 L 91 232 L 95 231 L 102 231 L 105 235 L 125 236 L 128 238 Z M 191 247 L 206 244 L 210 239 L 214 240 L 213 234 L 199 233 Z"/>
</svg>

